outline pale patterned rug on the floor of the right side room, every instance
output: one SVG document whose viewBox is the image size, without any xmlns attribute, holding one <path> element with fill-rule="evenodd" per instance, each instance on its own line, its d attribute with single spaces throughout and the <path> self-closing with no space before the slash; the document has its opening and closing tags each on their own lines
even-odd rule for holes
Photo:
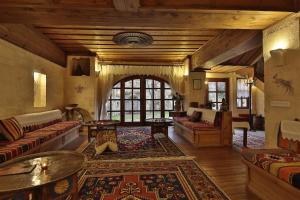
<svg viewBox="0 0 300 200">
<path fill-rule="evenodd" d="M 265 145 L 264 131 L 248 131 L 247 147 L 250 149 L 263 149 Z M 241 150 L 243 147 L 243 131 L 235 130 L 233 134 L 233 147 Z"/>
</svg>

